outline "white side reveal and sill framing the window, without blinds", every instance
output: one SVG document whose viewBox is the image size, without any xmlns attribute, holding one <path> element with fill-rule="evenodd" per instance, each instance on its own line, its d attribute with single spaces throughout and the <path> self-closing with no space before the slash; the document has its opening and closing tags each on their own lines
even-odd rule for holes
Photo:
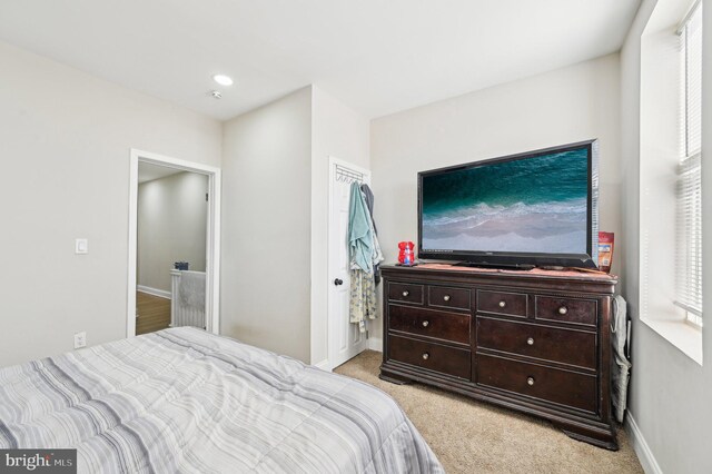
<svg viewBox="0 0 712 474">
<path fill-rule="evenodd" d="M 686 4 L 685 4 L 686 3 Z M 682 354 L 702 365 L 702 330 L 690 324 L 678 294 L 676 172 L 685 144 L 684 57 L 675 34 L 694 1 L 659 0 L 641 34 L 640 266 L 637 316 Z M 706 172 L 706 170 L 705 170 Z"/>
</svg>

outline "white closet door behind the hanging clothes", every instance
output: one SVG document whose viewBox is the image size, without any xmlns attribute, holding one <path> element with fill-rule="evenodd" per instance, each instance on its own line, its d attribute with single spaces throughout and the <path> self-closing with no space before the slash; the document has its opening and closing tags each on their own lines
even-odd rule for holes
<svg viewBox="0 0 712 474">
<path fill-rule="evenodd" d="M 370 185 L 370 171 L 329 158 L 328 352 L 329 368 L 366 349 L 366 334 L 348 322 L 348 205 L 354 180 Z M 368 324 L 368 323 L 366 323 Z"/>
</svg>

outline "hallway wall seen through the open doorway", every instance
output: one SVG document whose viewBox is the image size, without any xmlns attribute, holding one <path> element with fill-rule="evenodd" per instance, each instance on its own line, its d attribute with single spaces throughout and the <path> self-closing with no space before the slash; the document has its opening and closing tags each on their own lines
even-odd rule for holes
<svg viewBox="0 0 712 474">
<path fill-rule="evenodd" d="M 141 164 L 139 164 L 140 174 Z M 178 172 L 138 187 L 137 280 L 170 293 L 175 261 L 205 271 L 208 176 Z"/>
</svg>

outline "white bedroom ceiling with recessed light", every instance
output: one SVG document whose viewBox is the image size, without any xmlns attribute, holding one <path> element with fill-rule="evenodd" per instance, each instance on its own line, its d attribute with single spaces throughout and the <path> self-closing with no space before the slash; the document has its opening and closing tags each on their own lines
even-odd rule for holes
<svg viewBox="0 0 712 474">
<path fill-rule="evenodd" d="M 2 0 L 0 39 L 217 119 L 309 83 L 374 118 L 617 51 L 639 3 Z"/>
</svg>

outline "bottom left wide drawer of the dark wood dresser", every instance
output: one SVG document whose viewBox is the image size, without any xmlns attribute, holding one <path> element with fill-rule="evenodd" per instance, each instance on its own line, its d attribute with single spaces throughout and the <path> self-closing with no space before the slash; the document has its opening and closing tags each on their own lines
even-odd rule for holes
<svg viewBox="0 0 712 474">
<path fill-rule="evenodd" d="M 471 376 L 472 353 L 467 349 L 389 335 L 388 358 L 461 378 Z"/>
</svg>

